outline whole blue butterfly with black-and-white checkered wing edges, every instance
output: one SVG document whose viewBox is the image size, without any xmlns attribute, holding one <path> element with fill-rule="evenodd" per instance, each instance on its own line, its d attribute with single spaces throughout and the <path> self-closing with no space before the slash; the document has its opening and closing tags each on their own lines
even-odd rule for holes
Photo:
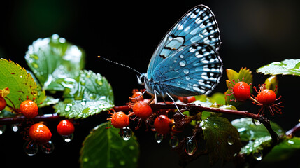
<svg viewBox="0 0 300 168">
<path fill-rule="evenodd" d="M 166 33 L 138 83 L 155 97 L 210 93 L 222 76 L 220 31 L 213 12 L 195 6 Z"/>
</svg>

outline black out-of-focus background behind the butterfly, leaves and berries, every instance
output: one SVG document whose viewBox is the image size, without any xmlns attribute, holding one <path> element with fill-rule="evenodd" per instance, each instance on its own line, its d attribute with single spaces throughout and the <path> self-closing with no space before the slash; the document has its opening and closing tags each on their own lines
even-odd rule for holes
<svg viewBox="0 0 300 168">
<path fill-rule="evenodd" d="M 85 50 L 85 69 L 105 76 L 113 87 L 115 105 L 124 105 L 133 88 L 143 87 L 138 85 L 134 71 L 102 62 L 97 55 L 145 72 L 152 52 L 164 34 L 187 10 L 201 3 L 209 6 L 217 18 L 224 69 L 239 71 L 241 67 L 250 68 L 254 73 L 253 85 L 258 85 L 267 77 L 255 73 L 259 67 L 299 58 L 300 4 L 298 1 L 271 0 L 1 2 L 0 57 L 28 68 L 24 60 L 27 47 L 38 38 L 59 34 Z M 216 92 L 227 90 L 226 78 L 224 74 Z M 297 99 L 300 78 L 278 76 L 278 80 L 278 94 L 283 96 L 285 109 L 283 115 L 267 116 L 284 130 L 290 130 L 300 118 Z M 252 111 L 257 111 L 257 106 Z M 101 116 L 80 121 L 70 144 L 63 143 L 56 133 L 57 123 L 49 123 L 55 151 L 50 155 L 39 152 L 34 157 L 28 157 L 22 151 L 22 135 L 8 128 L 0 136 L 0 167 L 79 167 L 81 143 L 89 130 L 101 122 Z M 178 167 L 178 156 L 171 152 L 167 140 L 157 144 L 154 133 L 144 134 L 143 130 L 138 130 L 136 136 L 141 145 L 139 167 Z M 299 165 L 299 159 L 295 160 L 295 157 L 271 166 Z M 261 163 L 258 167 L 266 165 L 270 164 Z M 208 158 L 192 162 L 189 167 L 209 167 Z"/>
</svg>

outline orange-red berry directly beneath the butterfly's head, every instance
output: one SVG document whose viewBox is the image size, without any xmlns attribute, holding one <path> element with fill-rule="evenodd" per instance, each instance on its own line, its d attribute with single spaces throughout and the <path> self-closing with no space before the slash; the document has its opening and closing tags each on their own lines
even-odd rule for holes
<svg viewBox="0 0 300 168">
<path fill-rule="evenodd" d="M 134 115 L 142 119 L 146 119 L 152 114 L 150 105 L 143 101 L 136 102 L 136 104 L 134 104 L 134 107 L 132 108 L 132 111 L 134 111 Z"/>
</svg>

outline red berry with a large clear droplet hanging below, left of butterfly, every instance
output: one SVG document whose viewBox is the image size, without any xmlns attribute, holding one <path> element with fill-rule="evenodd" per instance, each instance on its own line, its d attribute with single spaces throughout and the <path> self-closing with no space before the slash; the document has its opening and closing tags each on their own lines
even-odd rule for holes
<svg viewBox="0 0 300 168">
<path fill-rule="evenodd" d="M 129 125 L 129 117 L 123 111 L 110 114 L 112 114 L 112 116 L 108 120 L 111 120 L 113 127 L 122 128 Z"/>
</svg>

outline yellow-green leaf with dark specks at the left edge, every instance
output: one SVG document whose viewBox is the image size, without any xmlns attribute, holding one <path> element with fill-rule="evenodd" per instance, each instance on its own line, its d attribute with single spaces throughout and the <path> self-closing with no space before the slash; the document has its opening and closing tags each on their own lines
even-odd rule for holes
<svg viewBox="0 0 300 168">
<path fill-rule="evenodd" d="M 37 85 L 30 73 L 19 64 L 6 59 L 0 59 L 0 89 L 8 87 L 10 93 L 7 95 L 6 103 L 11 109 L 8 111 L 18 112 L 22 101 L 36 99 L 37 104 L 45 99 L 45 94 L 38 95 Z M 8 101 L 8 99 L 10 101 Z"/>
</svg>

